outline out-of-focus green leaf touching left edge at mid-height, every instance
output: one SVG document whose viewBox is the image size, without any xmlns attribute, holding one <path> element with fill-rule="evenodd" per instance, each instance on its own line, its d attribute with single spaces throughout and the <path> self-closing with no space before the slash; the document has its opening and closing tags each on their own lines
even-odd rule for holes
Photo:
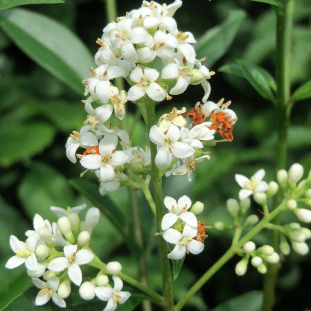
<svg viewBox="0 0 311 311">
<path fill-rule="evenodd" d="M 0 136 L 5 148 L 1 151 L 0 166 L 9 167 L 40 153 L 52 143 L 54 135 L 55 129 L 42 122 L 2 127 Z"/>
</svg>

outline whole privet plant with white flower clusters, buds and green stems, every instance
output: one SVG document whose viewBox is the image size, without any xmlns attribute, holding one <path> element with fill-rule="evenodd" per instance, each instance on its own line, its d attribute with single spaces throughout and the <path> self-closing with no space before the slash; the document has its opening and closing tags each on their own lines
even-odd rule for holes
<svg viewBox="0 0 311 311">
<path fill-rule="evenodd" d="M 130 289 L 164 310 L 178 311 L 234 255 L 239 257 L 235 266 L 238 276 L 243 276 L 249 268 L 275 279 L 278 263 L 285 260 L 291 248 L 300 255 L 309 252 L 305 241 L 311 238 L 311 231 L 301 223 L 311 222 L 311 171 L 302 179 L 302 165 L 295 163 L 288 170 L 284 168 L 286 131 L 290 108 L 295 101 L 289 97 L 286 54 L 290 49 L 294 0 L 263 2 L 275 5 L 278 22 L 277 91 L 276 95 L 271 93 L 278 113 L 276 180 L 264 181 L 264 169 L 250 177 L 235 174 L 241 190 L 236 198 L 226 202 L 230 223 L 220 219 L 215 224 L 205 224 L 200 219 L 204 205 L 195 197 L 163 197 L 162 179 L 184 175 L 183 178 L 191 182 L 192 172 L 200 169 L 200 162 L 213 156 L 211 147 L 234 141 L 233 127 L 238 118 L 231 109 L 231 101 L 225 102 L 222 98 L 214 103 L 208 100 L 209 81 L 212 83 L 215 72 L 204 65 L 209 55 L 196 58 L 193 47 L 196 40 L 192 33 L 178 28 L 173 16 L 178 14 L 182 2 L 175 0 L 160 5 L 143 1 L 141 7 L 105 26 L 102 37 L 96 40 L 100 46 L 95 54 L 97 67 L 90 67 L 90 76 L 83 80 L 86 99 L 82 103 L 87 116 L 81 129 L 70 134 L 66 155 L 71 162 L 79 162 L 78 170 L 85 169 L 81 178 L 85 174 L 95 174 L 102 196 L 125 186 L 142 191 L 157 224 L 154 239 L 159 244 L 163 292 L 159 294 L 149 288 L 146 279 L 140 282 L 124 274 L 119 262 L 103 262 L 94 253 L 92 232 L 99 221 L 98 208 L 89 208 L 85 219 L 81 219 L 79 213 L 86 209 L 86 204 L 67 209 L 52 206 L 57 222 L 51 224 L 36 214 L 34 230 L 25 233 L 26 241 L 22 237 L 21 240 L 14 235 L 10 237 L 15 255 L 7 261 L 6 268 L 13 269 L 25 263 L 28 276 L 38 288 L 37 296 L 30 297 L 36 306 L 52 298 L 54 304 L 66 308 L 66 299 L 72 288 L 78 286 L 80 299 L 98 299 L 104 311 L 118 309 L 119 304 L 126 306 L 127 300 L 131 300 Z M 128 86 L 124 86 L 121 79 Z M 197 86 L 193 108 L 188 111 L 184 107 L 167 109 L 156 119 L 156 105 L 168 101 L 171 106 L 174 97 L 186 92 L 189 85 Z M 149 146 L 132 146 L 131 137 L 122 128 L 127 118 L 126 109 L 132 104 L 145 122 Z M 113 114 L 122 120 L 120 127 L 113 124 Z M 261 219 L 250 208 L 251 198 L 262 208 Z M 294 213 L 297 221 L 280 223 L 279 215 L 283 211 Z M 122 231 L 122 224 L 110 219 Z M 212 227 L 233 231 L 231 246 L 214 265 L 204 267 L 207 271 L 176 303 L 170 262 L 175 279 L 185 256 L 208 252 L 204 246 L 208 249 L 209 239 L 213 239 Z M 263 229 L 276 234 L 266 244 L 255 245 L 252 239 Z M 127 243 L 130 249 L 142 247 L 134 240 Z M 142 258 L 142 264 L 143 261 Z M 81 267 L 84 265 L 94 267 L 97 272 L 85 275 Z M 129 290 L 123 290 L 123 281 L 130 285 Z M 273 293 L 273 288 L 273 282 L 265 283 L 266 291 Z M 271 309 L 272 302 L 273 294 L 265 295 L 264 309 Z M 135 306 L 129 305 L 123 310 L 133 308 Z M 143 309 L 151 310 L 151 304 L 145 301 Z"/>
</svg>

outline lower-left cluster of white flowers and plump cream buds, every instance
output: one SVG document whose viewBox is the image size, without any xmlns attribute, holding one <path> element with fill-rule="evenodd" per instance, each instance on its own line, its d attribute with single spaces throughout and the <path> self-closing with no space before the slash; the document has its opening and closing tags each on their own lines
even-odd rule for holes
<svg viewBox="0 0 311 311">
<path fill-rule="evenodd" d="M 7 261 L 6 268 L 13 269 L 25 263 L 27 274 L 40 289 L 35 305 L 46 304 L 52 298 L 55 304 L 65 308 L 64 299 L 71 293 L 71 282 L 77 286 L 81 285 L 80 266 L 91 263 L 94 259 L 89 242 L 100 215 L 98 208 L 91 207 L 86 212 L 85 220 L 80 220 L 79 213 L 85 208 L 86 204 L 68 207 L 67 210 L 52 206 L 51 210 L 58 216 L 57 223 L 51 224 L 49 220 L 35 214 L 34 230 L 26 231 L 26 242 L 20 241 L 14 235 L 10 236 L 10 246 L 15 255 Z M 116 262 L 107 264 L 107 273 L 119 273 L 120 266 Z M 108 276 L 106 277 L 108 280 Z M 109 306 L 107 305 L 106 311 L 115 309 L 115 301 L 121 303 L 121 298 L 124 302 L 130 296 L 128 292 L 124 297 L 121 295 L 123 292 L 119 293 L 122 281 L 117 276 L 113 278 L 115 288 L 110 296 L 114 302 L 102 299 L 108 300 Z M 108 281 L 106 285 L 109 286 Z M 120 299 L 115 300 L 118 294 L 121 295 Z"/>
</svg>

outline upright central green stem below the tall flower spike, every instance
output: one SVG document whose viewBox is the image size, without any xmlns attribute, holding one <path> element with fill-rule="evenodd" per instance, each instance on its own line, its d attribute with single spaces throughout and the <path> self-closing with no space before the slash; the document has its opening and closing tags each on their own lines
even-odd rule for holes
<svg viewBox="0 0 311 311">
<path fill-rule="evenodd" d="M 155 103 L 153 101 L 146 102 L 147 108 L 147 130 L 150 132 L 150 128 L 155 124 Z M 158 230 L 161 230 L 161 221 L 164 215 L 163 211 L 163 194 L 162 194 L 162 174 L 160 169 L 156 166 L 156 154 L 157 146 L 150 142 L 150 153 L 151 153 L 151 178 L 154 194 L 154 202 L 156 204 L 156 222 Z M 162 236 L 159 235 L 159 246 L 160 246 L 160 261 L 162 267 L 162 281 L 163 281 L 163 297 L 165 300 L 164 310 L 174 310 L 174 298 L 172 292 L 172 278 L 169 266 L 169 259 L 167 258 L 168 247 Z"/>
</svg>

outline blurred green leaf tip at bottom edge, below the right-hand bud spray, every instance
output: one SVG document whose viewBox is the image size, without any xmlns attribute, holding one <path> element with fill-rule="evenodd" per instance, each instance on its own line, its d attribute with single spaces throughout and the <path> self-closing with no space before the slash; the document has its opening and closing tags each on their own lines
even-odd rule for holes
<svg viewBox="0 0 311 311">
<path fill-rule="evenodd" d="M 233 299 L 227 300 L 211 311 L 260 311 L 262 305 L 262 292 L 254 290 Z"/>
</svg>

